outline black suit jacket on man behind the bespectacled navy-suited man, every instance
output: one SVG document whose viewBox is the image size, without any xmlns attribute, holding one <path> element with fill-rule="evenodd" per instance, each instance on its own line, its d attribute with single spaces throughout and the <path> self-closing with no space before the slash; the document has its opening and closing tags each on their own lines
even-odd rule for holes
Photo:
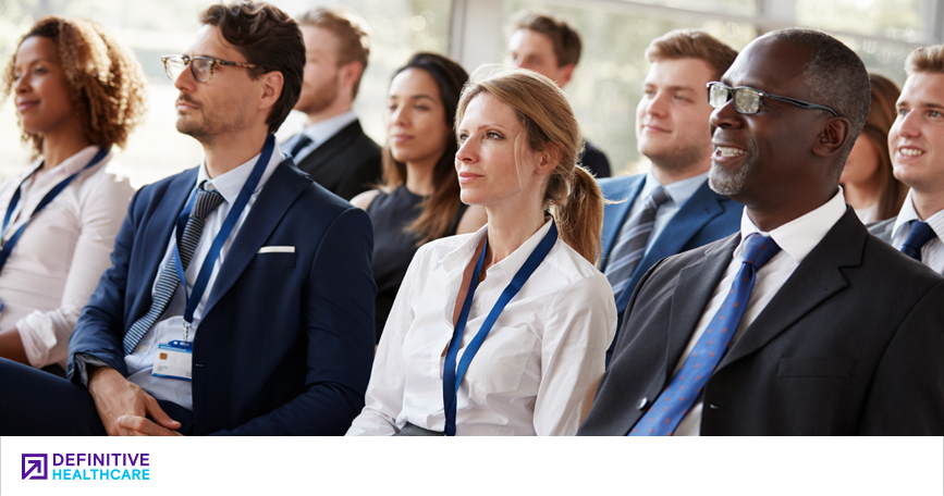
<svg viewBox="0 0 944 496">
<path fill-rule="evenodd" d="M 329 191 L 351 200 L 380 181 L 380 146 L 355 120 L 298 162 Z"/>
</svg>

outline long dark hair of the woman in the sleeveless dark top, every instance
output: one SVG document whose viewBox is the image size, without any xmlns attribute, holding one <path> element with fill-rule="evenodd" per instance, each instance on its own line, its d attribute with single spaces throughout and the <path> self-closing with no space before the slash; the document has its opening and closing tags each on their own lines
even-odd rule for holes
<svg viewBox="0 0 944 496">
<path fill-rule="evenodd" d="M 458 176 L 455 173 L 455 152 L 458 150 L 455 142 L 455 109 L 462 87 L 468 80 L 468 73 L 452 59 L 425 52 L 413 55 L 406 65 L 393 73 L 393 76 L 396 77 L 407 69 L 424 71 L 436 80 L 445 110 L 445 127 L 449 129 L 445 135 L 445 151 L 432 171 L 432 195 L 422 200 L 419 204 L 422 212 L 405 230 L 418 238 L 417 246 L 420 246 L 446 235 L 455 222 L 462 203 Z M 390 149 L 384 149 L 381 187 L 393 190 L 404 182 L 406 182 L 406 164 L 394 160 Z"/>
</svg>

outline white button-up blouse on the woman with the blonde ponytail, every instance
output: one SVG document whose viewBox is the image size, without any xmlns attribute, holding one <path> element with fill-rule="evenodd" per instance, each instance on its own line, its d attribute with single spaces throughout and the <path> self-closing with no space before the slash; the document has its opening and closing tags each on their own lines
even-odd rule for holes
<svg viewBox="0 0 944 496">
<path fill-rule="evenodd" d="M 444 355 L 463 272 L 488 225 L 417 251 L 380 338 L 366 406 L 347 435 L 391 435 L 407 422 L 445 430 Z M 476 289 L 456 362 L 548 222 L 489 268 Z M 456 395 L 457 435 L 573 435 L 587 389 L 616 332 L 606 277 L 560 238 L 482 344 Z"/>
</svg>

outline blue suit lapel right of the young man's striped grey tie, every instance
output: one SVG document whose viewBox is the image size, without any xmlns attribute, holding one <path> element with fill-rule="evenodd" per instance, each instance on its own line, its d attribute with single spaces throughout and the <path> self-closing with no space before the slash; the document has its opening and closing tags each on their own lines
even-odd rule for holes
<svg viewBox="0 0 944 496">
<path fill-rule="evenodd" d="M 636 272 L 629 278 L 627 288 L 635 288 L 642 278 L 646 271 L 655 264 L 659 260 L 682 252 L 682 247 L 695 236 L 698 231 L 704 227 L 704 224 L 711 222 L 712 219 L 721 215 L 724 208 L 719 203 L 719 196 L 708 187 L 706 181 L 685 204 L 672 216 L 672 220 L 665 225 L 659 237 L 655 238 L 652 246 L 639 261 L 636 266 Z M 626 308 L 629 303 L 632 290 L 625 290 L 620 295 L 620 301 L 616 301 L 616 308 Z"/>
</svg>

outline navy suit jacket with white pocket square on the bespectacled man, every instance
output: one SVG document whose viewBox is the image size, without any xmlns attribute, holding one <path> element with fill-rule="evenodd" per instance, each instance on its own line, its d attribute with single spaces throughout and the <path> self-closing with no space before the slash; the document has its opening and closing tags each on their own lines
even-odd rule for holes
<svg viewBox="0 0 944 496">
<path fill-rule="evenodd" d="M 151 287 L 197 169 L 132 199 L 107 270 L 70 340 L 125 376 L 124 333 Z M 265 246 L 295 252 L 258 253 Z M 373 360 L 373 231 L 291 159 L 269 177 L 226 253 L 194 336 L 193 434 L 344 434 Z"/>
</svg>

